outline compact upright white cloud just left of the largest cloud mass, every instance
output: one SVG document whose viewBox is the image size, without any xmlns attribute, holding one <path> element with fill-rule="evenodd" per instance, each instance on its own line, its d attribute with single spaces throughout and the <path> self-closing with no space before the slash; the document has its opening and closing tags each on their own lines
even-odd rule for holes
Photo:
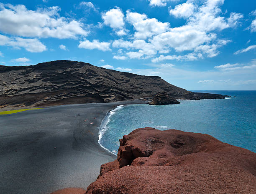
<svg viewBox="0 0 256 194">
<path fill-rule="evenodd" d="M 117 35 L 123 36 L 127 34 L 127 30 L 124 28 L 124 15 L 119 7 L 102 13 L 101 17 L 104 20 L 103 23 L 113 28 Z"/>
</svg>

